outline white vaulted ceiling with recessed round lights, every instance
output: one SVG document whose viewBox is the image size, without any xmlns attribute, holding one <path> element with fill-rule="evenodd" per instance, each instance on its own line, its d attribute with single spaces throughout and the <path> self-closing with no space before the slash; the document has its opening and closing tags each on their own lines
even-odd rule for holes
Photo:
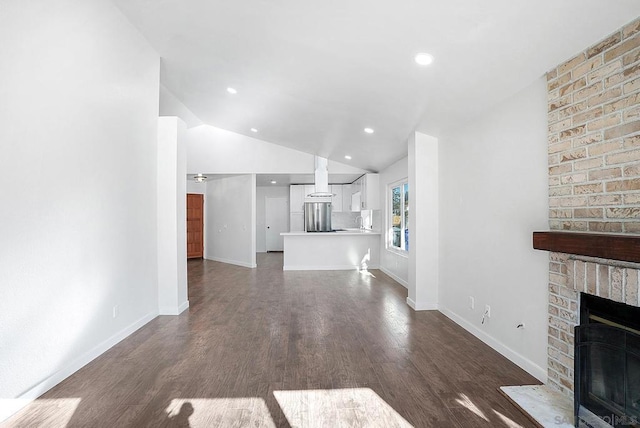
<svg viewBox="0 0 640 428">
<path fill-rule="evenodd" d="M 373 171 L 640 15 L 639 0 L 114 2 L 205 123 Z"/>
</svg>

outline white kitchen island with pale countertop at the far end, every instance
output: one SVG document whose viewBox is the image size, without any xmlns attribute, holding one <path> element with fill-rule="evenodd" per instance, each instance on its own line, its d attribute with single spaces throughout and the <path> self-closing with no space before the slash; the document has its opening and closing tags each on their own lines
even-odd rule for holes
<svg viewBox="0 0 640 428">
<path fill-rule="evenodd" d="M 283 270 L 367 270 L 380 265 L 380 232 L 285 232 Z"/>
</svg>

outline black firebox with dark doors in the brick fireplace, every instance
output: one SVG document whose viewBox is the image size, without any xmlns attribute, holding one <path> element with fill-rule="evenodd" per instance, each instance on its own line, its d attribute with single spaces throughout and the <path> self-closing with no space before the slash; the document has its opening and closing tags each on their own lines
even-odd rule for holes
<svg viewBox="0 0 640 428">
<path fill-rule="evenodd" d="M 580 294 L 576 427 L 640 427 L 640 308 Z"/>
</svg>

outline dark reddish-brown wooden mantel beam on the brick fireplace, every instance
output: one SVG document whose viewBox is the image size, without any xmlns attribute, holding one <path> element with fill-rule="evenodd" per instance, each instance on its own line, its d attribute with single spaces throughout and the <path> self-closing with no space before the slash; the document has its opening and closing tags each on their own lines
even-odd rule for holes
<svg viewBox="0 0 640 428">
<path fill-rule="evenodd" d="M 533 248 L 640 263 L 640 236 L 608 233 L 533 232 Z"/>
</svg>

